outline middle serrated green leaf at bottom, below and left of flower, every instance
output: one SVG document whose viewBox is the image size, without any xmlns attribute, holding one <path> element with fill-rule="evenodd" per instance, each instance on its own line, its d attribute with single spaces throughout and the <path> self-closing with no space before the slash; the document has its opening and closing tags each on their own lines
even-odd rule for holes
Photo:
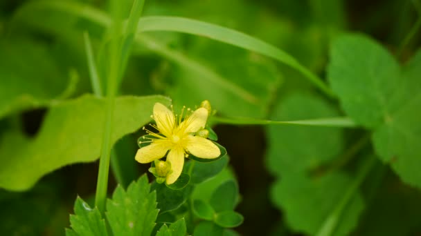
<svg viewBox="0 0 421 236">
<path fill-rule="evenodd" d="M 114 235 L 150 235 L 159 210 L 156 209 L 156 193 L 150 192 L 147 176 L 143 175 L 129 185 L 121 186 L 107 200 L 107 219 Z"/>
</svg>

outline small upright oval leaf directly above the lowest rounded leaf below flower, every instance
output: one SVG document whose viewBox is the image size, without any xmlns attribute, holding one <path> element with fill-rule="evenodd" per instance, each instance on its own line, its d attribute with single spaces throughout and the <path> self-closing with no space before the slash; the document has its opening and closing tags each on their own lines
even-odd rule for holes
<svg viewBox="0 0 421 236">
<path fill-rule="evenodd" d="M 238 204 L 238 186 L 233 180 L 222 183 L 211 196 L 209 201 L 215 213 L 225 210 L 233 210 Z"/>
</svg>

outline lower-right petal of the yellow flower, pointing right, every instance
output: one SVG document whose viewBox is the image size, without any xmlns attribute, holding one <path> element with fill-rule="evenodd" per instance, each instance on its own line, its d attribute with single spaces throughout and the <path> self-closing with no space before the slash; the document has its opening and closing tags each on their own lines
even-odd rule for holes
<svg viewBox="0 0 421 236">
<path fill-rule="evenodd" d="M 189 135 L 186 137 L 186 149 L 192 155 L 204 159 L 213 159 L 221 155 L 221 150 L 212 141 Z"/>
</svg>

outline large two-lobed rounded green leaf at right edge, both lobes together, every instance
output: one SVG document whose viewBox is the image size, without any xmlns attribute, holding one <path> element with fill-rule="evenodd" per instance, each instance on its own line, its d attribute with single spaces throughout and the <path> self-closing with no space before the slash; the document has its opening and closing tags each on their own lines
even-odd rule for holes
<svg viewBox="0 0 421 236">
<path fill-rule="evenodd" d="M 348 50 L 348 48 L 353 48 Z M 402 181 L 421 188 L 421 51 L 404 66 L 375 41 L 340 37 L 332 48 L 329 78 L 344 110 L 373 129 L 375 151 Z"/>
</svg>

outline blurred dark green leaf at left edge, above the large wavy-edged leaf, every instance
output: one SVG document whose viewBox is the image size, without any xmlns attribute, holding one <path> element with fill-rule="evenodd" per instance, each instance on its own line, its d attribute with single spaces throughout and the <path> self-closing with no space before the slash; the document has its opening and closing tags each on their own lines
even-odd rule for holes
<svg viewBox="0 0 421 236">
<path fill-rule="evenodd" d="M 0 40 L 0 51 L 0 118 L 51 106 L 54 99 L 68 97 L 73 91 L 77 75 L 69 77 L 69 72 L 60 70 L 46 45 Z"/>
</svg>

